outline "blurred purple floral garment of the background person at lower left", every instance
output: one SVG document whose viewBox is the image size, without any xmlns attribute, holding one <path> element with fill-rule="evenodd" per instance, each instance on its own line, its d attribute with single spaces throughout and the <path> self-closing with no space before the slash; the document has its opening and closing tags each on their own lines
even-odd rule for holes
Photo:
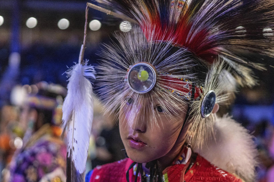
<svg viewBox="0 0 274 182">
<path fill-rule="evenodd" d="M 42 127 L 48 130 L 50 127 Z M 37 133 L 39 133 L 39 131 Z M 22 149 L 11 164 L 10 182 L 65 181 L 66 146 L 51 133 L 46 133 Z"/>
</svg>

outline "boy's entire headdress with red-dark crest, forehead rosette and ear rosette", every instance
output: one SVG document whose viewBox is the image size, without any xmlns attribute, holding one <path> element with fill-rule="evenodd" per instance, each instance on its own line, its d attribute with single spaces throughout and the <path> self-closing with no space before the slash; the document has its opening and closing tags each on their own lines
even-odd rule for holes
<svg viewBox="0 0 274 182">
<path fill-rule="evenodd" d="M 228 78 L 242 86 L 253 86 L 257 81 L 252 68 L 264 69 L 248 55 L 274 56 L 273 37 L 263 36 L 263 28 L 274 25 L 273 3 L 269 1 L 106 0 L 104 3 L 138 22 L 131 32 L 115 34 L 118 43 L 104 45 L 100 53 L 103 60 L 98 68 L 99 93 L 106 102 L 106 111 L 114 112 L 128 104 L 122 110 L 130 113 L 127 124 L 131 125 L 146 111 L 151 113 L 152 126 L 160 126 L 161 123 L 155 123 L 154 99 L 170 119 L 186 112 L 182 106 L 188 104 L 193 121 L 190 133 L 197 148 L 203 145 L 214 123 L 213 117 L 205 117 L 201 111 L 208 92 L 215 91 L 216 103 L 228 104 L 230 92 L 226 89 L 232 85 Z M 156 77 L 155 85 L 146 93 L 133 91 L 128 81 L 132 67 L 142 62 L 154 69 Z M 142 69 L 136 73 L 141 82 L 143 76 L 150 77 Z M 138 79 L 133 80 L 134 84 Z M 140 108 L 147 101 L 150 106 Z"/>
</svg>

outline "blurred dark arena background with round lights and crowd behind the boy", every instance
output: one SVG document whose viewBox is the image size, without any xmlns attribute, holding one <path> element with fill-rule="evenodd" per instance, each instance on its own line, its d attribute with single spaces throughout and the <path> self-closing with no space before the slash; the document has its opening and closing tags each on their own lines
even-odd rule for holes
<svg viewBox="0 0 274 182">
<path fill-rule="evenodd" d="M 0 0 L 0 181 L 8 181 L 17 171 L 14 167 L 18 166 L 15 164 L 18 161 L 16 156 L 20 156 L 28 148 L 35 151 L 36 144 L 30 141 L 41 143 L 39 138 L 46 138 L 52 142 L 55 140 L 48 136 L 60 138 L 57 127 L 60 125 L 60 108 L 67 85 L 64 73 L 67 67 L 78 61 L 86 2 Z M 245 31 L 240 25 L 235 28 L 240 32 Z M 96 66 L 100 62 L 96 53 L 102 48 L 101 43 L 108 43 L 113 32 L 126 31 L 130 31 L 128 22 L 89 9 L 84 59 L 89 59 L 89 63 Z M 265 28 L 262 34 L 273 36 L 273 30 Z M 259 61 L 273 65 L 273 58 L 250 56 L 257 56 Z M 260 154 L 258 181 L 274 181 L 273 73 L 272 66 L 268 66 L 267 71 L 255 71 L 255 75 L 260 78 L 259 86 L 239 90 L 235 102 L 228 108 L 229 114 L 255 136 Z M 51 101 L 53 104 L 49 107 Z M 96 165 L 124 158 L 117 121 L 112 116 L 102 115 L 101 110 L 102 106 L 96 100 L 87 171 Z M 51 113 L 51 117 L 45 117 L 47 113 Z M 220 109 L 219 114 L 224 113 L 227 113 L 227 108 Z M 50 126 L 50 129 L 43 131 L 47 137 L 41 137 L 43 132 L 40 129 L 46 125 Z M 31 138 L 36 133 L 39 133 L 36 139 Z M 56 148 L 62 150 L 62 145 L 60 143 L 61 147 Z M 49 156 L 55 156 L 50 154 L 53 150 L 48 150 L 49 146 L 45 144 L 45 151 Z M 37 160 L 39 154 L 31 153 L 32 156 L 38 156 Z M 62 157 L 65 160 L 65 156 L 61 155 L 56 163 L 61 166 L 57 172 L 48 167 L 49 171 L 38 173 L 35 170 L 39 170 L 39 166 L 31 166 L 29 162 L 29 165 L 20 169 L 20 175 L 26 175 L 32 181 L 43 181 L 46 173 L 63 174 Z M 22 158 L 26 158 L 25 154 Z M 56 169 L 54 166 L 52 168 Z M 17 181 L 20 181 L 20 175 Z"/>
</svg>

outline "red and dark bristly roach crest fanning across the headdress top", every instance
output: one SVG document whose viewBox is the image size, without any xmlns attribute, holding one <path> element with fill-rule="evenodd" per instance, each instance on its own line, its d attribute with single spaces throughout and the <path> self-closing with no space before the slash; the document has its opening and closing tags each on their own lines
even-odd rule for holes
<svg viewBox="0 0 274 182">
<path fill-rule="evenodd" d="M 273 37 L 263 36 L 273 28 L 274 5 L 268 0 L 104 2 L 137 21 L 148 40 L 172 42 L 208 65 L 221 56 L 241 85 L 256 83 L 250 67 L 263 69 L 248 54 L 274 56 Z"/>
</svg>

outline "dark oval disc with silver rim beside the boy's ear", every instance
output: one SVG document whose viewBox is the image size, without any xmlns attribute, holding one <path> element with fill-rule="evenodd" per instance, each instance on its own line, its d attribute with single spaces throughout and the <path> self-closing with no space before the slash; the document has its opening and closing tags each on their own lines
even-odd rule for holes
<svg viewBox="0 0 274 182">
<path fill-rule="evenodd" d="M 216 94 L 213 90 L 210 90 L 209 92 L 206 93 L 202 101 L 201 112 L 203 117 L 208 117 L 211 114 L 213 107 L 215 105 L 215 102 L 216 102 Z"/>
</svg>

